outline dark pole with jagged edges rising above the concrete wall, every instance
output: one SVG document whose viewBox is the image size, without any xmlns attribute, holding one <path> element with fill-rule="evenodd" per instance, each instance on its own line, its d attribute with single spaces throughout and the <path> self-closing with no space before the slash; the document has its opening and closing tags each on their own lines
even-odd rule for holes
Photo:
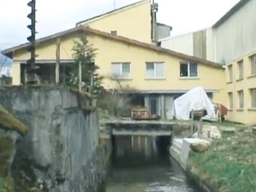
<svg viewBox="0 0 256 192">
<path fill-rule="evenodd" d="M 28 64 L 28 84 L 35 84 L 35 45 L 36 45 L 36 0 L 31 0 L 28 3 L 28 6 L 31 7 L 31 13 L 29 13 L 28 18 L 31 20 L 31 24 L 28 25 L 28 28 L 31 31 L 31 36 L 29 36 L 27 39 L 30 42 L 30 45 L 28 47 L 28 51 L 31 53 L 30 59 L 27 61 Z"/>
</svg>

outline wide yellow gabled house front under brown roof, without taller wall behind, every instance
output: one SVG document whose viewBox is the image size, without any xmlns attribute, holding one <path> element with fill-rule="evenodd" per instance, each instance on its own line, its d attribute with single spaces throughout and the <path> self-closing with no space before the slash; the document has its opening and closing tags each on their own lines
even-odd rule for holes
<svg viewBox="0 0 256 192">
<path fill-rule="evenodd" d="M 134 94 L 152 115 L 171 118 L 173 99 L 195 86 L 203 86 L 214 102 L 225 103 L 225 69 L 218 63 L 83 26 L 37 41 L 36 64 L 44 71 L 43 83 L 55 82 L 57 40 L 60 39 L 62 70 L 66 63 L 73 61 L 72 47 L 79 33 L 86 33 L 88 41 L 98 49 L 94 62 L 100 67 L 99 74 L 111 77 L 104 79 L 104 87 L 117 88 L 115 78 L 118 77 L 123 86 L 136 90 Z M 13 84 L 24 83 L 28 45 L 4 51 L 13 58 Z"/>
</svg>

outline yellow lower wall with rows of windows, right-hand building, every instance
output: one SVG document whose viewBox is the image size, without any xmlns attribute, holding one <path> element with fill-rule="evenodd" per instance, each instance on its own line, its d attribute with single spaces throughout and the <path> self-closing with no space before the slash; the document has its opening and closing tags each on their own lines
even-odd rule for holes
<svg viewBox="0 0 256 192">
<path fill-rule="evenodd" d="M 228 116 L 230 120 L 255 124 L 256 51 L 228 63 L 226 67 Z"/>
</svg>

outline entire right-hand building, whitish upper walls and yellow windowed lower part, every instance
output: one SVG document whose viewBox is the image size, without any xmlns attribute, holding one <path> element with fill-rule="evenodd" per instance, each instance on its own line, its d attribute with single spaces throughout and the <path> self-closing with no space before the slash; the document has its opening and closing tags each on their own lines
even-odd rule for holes
<svg viewBox="0 0 256 192">
<path fill-rule="evenodd" d="M 256 0 L 241 0 L 212 28 L 176 38 L 162 47 L 225 65 L 228 120 L 256 124 Z"/>
</svg>

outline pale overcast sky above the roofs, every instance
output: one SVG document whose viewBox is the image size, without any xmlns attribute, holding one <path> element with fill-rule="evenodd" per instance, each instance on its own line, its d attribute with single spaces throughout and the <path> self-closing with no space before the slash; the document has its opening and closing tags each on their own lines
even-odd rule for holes
<svg viewBox="0 0 256 192">
<path fill-rule="evenodd" d="M 116 3 L 115 3 L 116 1 Z M 74 28 L 76 22 L 138 0 L 36 0 L 37 38 Z M 212 26 L 239 0 L 155 0 L 157 21 L 173 27 L 172 36 Z M 26 42 L 28 0 L 0 0 L 0 50 Z"/>
</svg>

